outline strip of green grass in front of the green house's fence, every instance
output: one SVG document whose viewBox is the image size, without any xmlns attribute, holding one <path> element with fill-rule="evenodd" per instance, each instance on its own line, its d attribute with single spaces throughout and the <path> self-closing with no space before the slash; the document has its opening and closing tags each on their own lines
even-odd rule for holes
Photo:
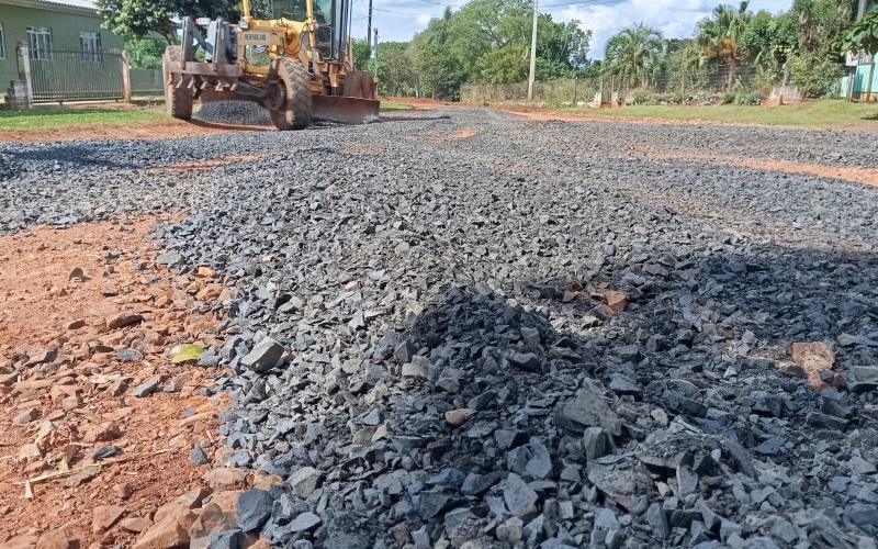
<svg viewBox="0 0 878 549">
<path fill-rule="evenodd" d="M 69 125 L 125 124 L 165 120 L 158 110 L 145 109 L 70 109 L 67 107 L 35 107 L 25 111 L 0 109 L 0 130 L 46 130 Z"/>
</svg>

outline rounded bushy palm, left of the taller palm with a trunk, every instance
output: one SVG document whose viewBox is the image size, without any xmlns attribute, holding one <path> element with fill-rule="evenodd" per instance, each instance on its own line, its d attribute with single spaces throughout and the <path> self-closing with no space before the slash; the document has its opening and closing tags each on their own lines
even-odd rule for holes
<svg viewBox="0 0 878 549">
<path fill-rule="evenodd" d="M 619 75 L 629 86 L 648 87 L 650 78 L 662 68 L 662 33 L 643 23 L 623 29 L 607 41 L 604 63 L 610 74 Z"/>
</svg>

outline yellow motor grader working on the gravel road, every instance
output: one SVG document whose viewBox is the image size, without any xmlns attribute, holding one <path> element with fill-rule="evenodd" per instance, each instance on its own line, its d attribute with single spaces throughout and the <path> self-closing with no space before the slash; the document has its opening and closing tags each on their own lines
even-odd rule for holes
<svg viewBox="0 0 878 549">
<path fill-rule="evenodd" d="M 180 46 L 162 59 L 168 115 L 189 120 L 192 103 L 239 100 L 263 105 L 278 130 L 312 117 L 378 121 L 371 72 L 353 70 L 351 0 L 269 0 L 272 19 L 255 19 L 249 0 L 237 24 L 185 18 Z"/>
</svg>

